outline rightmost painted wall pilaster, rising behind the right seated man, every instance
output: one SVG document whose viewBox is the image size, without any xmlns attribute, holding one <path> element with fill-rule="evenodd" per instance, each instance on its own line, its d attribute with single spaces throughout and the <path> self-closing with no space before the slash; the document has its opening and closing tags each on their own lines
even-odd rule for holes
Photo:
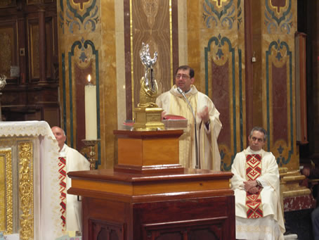
<svg viewBox="0 0 319 240">
<path fill-rule="evenodd" d="M 278 165 L 298 170 L 294 75 L 297 4 L 292 0 L 267 0 L 263 13 L 263 125 L 269 134 L 266 148 L 273 152 Z"/>
</svg>

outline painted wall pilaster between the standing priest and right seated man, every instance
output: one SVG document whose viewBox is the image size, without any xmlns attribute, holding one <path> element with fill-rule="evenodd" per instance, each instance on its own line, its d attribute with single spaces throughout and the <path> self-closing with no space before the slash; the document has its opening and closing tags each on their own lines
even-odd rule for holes
<svg viewBox="0 0 319 240">
<path fill-rule="evenodd" d="M 195 68 L 195 85 L 221 113 L 221 169 L 230 170 L 244 148 L 245 75 L 243 1 L 188 1 L 188 60 Z M 202 16 L 202 18 L 200 18 Z M 197 19 L 196 19 L 197 18 Z M 190 34 L 191 33 L 191 34 Z M 196 49 L 196 51 L 195 51 Z"/>
</svg>

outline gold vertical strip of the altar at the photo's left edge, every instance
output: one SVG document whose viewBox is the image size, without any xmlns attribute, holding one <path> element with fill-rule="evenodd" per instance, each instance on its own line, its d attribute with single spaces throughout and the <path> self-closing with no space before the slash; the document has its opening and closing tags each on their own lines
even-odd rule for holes
<svg viewBox="0 0 319 240">
<path fill-rule="evenodd" d="M 0 149 L 0 232 L 13 233 L 11 149 Z"/>
</svg>

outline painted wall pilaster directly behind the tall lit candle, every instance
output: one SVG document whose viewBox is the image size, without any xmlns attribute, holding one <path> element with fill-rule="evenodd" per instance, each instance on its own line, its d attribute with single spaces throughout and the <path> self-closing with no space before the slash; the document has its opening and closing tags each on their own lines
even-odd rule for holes
<svg viewBox="0 0 319 240">
<path fill-rule="evenodd" d="M 84 153 L 88 150 L 83 149 L 82 139 L 85 139 L 84 86 L 90 74 L 96 84 L 97 134 L 101 139 L 96 147 L 98 165 L 112 166 L 115 151 L 112 131 L 117 127 L 114 2 L 58 1 L 58 16 L 62 125 L 67 144 Z"/>
</svg>

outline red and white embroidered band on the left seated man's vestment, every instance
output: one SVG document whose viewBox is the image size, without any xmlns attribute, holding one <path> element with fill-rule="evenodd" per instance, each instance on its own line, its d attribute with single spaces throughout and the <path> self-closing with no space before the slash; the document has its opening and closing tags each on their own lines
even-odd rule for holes
<svg viewBox="0 0 319 240">
<path fill-rule="evenodd" d="M 66 209 L 67 209 L 67 184 L 66 184 L 66 166 L 65 166 L 65 158 L 59 158 L 59 181 L 60 181 L 60 213 L 61 213 L 61 220 L 62 220 L 62 231 L 65 231 L 66 224 Z"/>
</svg>

